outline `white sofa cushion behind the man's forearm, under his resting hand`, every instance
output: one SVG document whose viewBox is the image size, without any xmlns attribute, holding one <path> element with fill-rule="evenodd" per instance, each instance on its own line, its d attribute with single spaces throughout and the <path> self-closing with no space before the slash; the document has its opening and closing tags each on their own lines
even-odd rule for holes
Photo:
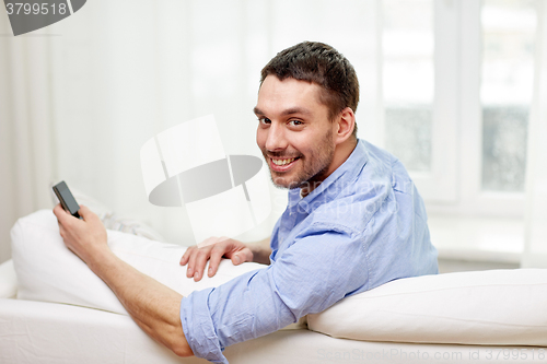
<svg viewBox="0 0 547 364">
<path fill-rule="evenodd" d="M 194 279 L 186 278 L 186 267 L 179 265 L 186 247 L 116 231 L 107 233 L 108 246 L 114 254 L 183 296 L 266 267 L 252 262 L 233 266 L 230 260 L 223 259 L 214 277 L 206 274 L 201 281 L 194 282 Z M 51 210 L 40 210 L 20 219 L 11 231 L 11 240 L 19 281 L 18 298 L 72 304 L 127 315 L 108 286 L 65 246 Z"/>
</svg>

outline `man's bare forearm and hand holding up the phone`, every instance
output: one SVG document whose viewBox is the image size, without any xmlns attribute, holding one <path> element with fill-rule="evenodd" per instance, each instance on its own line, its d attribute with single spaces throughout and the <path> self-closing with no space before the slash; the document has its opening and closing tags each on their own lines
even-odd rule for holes
<svg viewBox="0 0 547 364">
<path fill-rule="evenodd" d="M 83 221 L 60 204 L 54 213 L 67 247 L 110 287 L 137 325 L 175 354 L 193 355 L 181 322 L 183 296 L 116 257 L 108 248 L 103 223 L 86 207 L 79 211 Z"/>
</svg>

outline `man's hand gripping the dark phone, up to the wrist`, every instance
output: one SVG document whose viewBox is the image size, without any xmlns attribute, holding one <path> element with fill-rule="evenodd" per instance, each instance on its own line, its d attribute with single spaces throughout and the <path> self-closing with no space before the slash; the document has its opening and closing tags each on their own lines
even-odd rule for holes
<svg viewBox="0 0 547 364">
<path fill-rule="evenodd" d="M 86 207 L 81 206 L 79 211 L 83 221 L 72 216 L 60 204 L 55 207 L 54 213 L 65 244 L 85 263 L 89 265 L 97 254 L 108 248 L 106 230 L 101 219 Z"/>
</svg>

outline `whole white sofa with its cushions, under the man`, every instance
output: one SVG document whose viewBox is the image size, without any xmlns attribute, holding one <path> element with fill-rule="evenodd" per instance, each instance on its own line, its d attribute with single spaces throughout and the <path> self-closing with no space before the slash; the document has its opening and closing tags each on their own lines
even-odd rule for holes
<svg viewBox="0 0 547 364">
<path fill-rule="evenodd" d="M 61 240 L 45 244 L 54 236 L 47 230 L 56 227 L 47 213 L 18 222 L 13 261 L 0 265 L 0 363 L 205 363 L 155 343 Z M 183 294 L 256 268 L 224 261 L 217 281 L 170 281 L 181 269 L 179 251 L 164 259 L 159 243 L 108 234 L 123 259 Z M 53 269 L 59 265 L 63 269 Z M 225 356 L 230 363 L 545 363 L 545 307 L 547 270 L 403 279 L 310 315 L 307 327 L 230 347 Z"/>
</svg>

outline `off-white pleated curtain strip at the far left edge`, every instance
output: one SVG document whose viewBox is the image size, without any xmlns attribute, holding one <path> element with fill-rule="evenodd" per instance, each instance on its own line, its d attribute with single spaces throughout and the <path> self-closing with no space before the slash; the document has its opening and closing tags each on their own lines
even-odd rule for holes
<svg viewBox="0 0 547 364">
<path fill-rule="evenodd" d="M 3 14 L 1 14 L 3 15 Z M 9 34 L 7 16 L 0 33 Z M 0 262 L 10 257 L 9 231 L 19 216 L 49 207 L 51 106 L 48 46 L 40 36 L 0 36 Z"/>
</svg>

